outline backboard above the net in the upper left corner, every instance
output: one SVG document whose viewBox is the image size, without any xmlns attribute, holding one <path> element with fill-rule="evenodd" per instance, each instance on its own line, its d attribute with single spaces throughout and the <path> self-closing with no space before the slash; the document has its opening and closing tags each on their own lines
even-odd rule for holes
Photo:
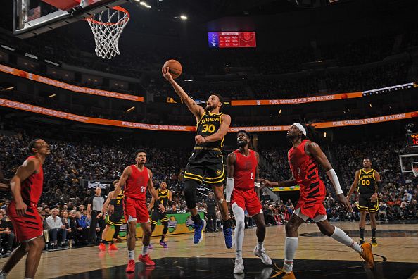
<svg viewBox="0 0 418 279">
<path fill-rule="evenodd" d="M 13 35 L 32 37 L 128 0 L 13 0 Z"/>
</svg>

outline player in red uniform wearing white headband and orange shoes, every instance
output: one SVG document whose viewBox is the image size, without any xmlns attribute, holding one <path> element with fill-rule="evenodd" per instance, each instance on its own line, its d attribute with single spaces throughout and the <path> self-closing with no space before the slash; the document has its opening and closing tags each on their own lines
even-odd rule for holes
<svg viewBox="0 0 418 279">
<path fill-rule="evenodd" d="M 334 227 L 327 221 L 324 202 L 326 190 L 324 182 L 318 175 L 318 164 L 327 172 L 331 180 L 338 201 L 352 211 L 350 202 L 344 197 L 341 190 L 338 177 L 329 163 L 327 156 L 315 142 L 311 142 L 306 137 L 307 132 L 304 125 L 294 123 L 287 131 L 287 138 L 291 140 L 293 147 L 288 152 L 289 165 L 292 171 L 292 178 L 281 182 L 270 182 L 260 179 L 263 185 L 267 187 L 290 187 L 300 186 L 300 198 L 296 205 L 295 212 L 291 216 L 289 223 L 286 224 L 286 240 L 284 242 L 284 265 L 277 272 L 276 278 L 295 278 L 293 275 L 293 259 L 298 247 L 298 228 L 299 226 L 312 218 L 317 224 L 319 230 L 324 235 L 334 238 L 334 240 L 345 244 L 346 246 L 358 252 L 362 259 L 367 262 L 369 268 L 373 269 L 374 259 L 372 254 L 372 244 L 365 243 L 360 246 L 351 237 L 346 235 L 340 228 Z"/>
</svg>

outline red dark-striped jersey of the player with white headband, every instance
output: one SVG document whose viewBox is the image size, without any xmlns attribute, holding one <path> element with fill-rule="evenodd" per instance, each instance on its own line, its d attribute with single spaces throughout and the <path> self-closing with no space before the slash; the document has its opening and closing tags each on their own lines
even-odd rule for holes
<svg viewBox="0 0 418 279">
<path fill-rule="evenodd" d="M 288 152 L 288 159 L 293 178 L 300 186 L 300 204 L 322 203 L 325 198 L 325 185 L 319 178 L 317 161 L 305 153 L 305 144 L 300 142 L 298 147 L 292 147 Z"/>
</svg>

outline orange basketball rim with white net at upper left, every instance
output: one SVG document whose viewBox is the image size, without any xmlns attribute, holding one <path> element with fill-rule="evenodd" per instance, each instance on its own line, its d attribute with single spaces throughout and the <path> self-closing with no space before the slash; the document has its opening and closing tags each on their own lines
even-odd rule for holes
<svg viewBox="0 0 418 279">
<path fill-rule="evenodd" d="M 129 21 L 129 12 L 120 6 L 109 8 L 86 18 L 93 31 L 97 56 L 111 59 L 120 54 L 120 34 Z"/>
</svg>

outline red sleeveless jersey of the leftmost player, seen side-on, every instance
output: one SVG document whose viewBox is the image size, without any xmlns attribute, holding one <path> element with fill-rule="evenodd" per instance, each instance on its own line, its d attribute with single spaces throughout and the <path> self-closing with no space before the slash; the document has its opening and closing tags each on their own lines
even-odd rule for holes
<svg viewBox="0 0 418 279">
<path fill-rule="evenodd" d="M 26 160 L 32 159 L 34 156 L 27 157 Z M 23 202 L 28 204 L 32 202 L 38 204 L 42 194 L 42 187 L 44 185 L 44 170 L 39 166 L 38 173 L 32 173 L 29 178 L 26 178 L 20 185 L 20 194 Z"/>
</svg>

